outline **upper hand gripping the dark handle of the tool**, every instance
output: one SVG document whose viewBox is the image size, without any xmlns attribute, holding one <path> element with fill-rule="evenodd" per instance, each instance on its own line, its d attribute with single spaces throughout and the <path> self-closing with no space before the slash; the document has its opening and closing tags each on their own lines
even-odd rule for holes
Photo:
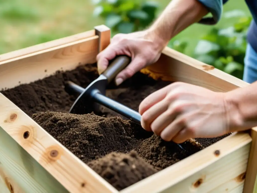
<svg viewBox="0 0 257 193">
<path fill-rule="evenodd" d="M 120 85 L 137 71 L 155 63 L 164 47 L 162 40 L 147 30 L 129 34 L 117 34 L 113 37 L 108 47 L 96 57 L 98 73 L 102 74 L 107 68 L 109 60 L 112 60 L 117 55 L 131 57 L 131 63 L 115 77 L 116 85 Z"/>
</svg>

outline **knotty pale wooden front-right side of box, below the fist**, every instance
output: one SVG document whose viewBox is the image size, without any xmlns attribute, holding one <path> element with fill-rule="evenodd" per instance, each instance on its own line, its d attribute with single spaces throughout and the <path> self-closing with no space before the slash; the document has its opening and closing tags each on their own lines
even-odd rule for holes
<svg viewBox="0 0 257 193">
<path fill-rule="evenodd" d="M 121 192 L 225 192 L 241 189 L 251 141 L 248 133 L 234 133 Z M 218 156 L 215 151 L 219 151 Z"/>
</svg>

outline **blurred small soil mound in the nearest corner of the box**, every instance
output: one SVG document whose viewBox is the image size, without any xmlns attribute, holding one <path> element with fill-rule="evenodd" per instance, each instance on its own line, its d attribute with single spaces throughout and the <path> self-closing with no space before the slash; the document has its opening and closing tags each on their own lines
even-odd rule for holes
<svg viewBox="0 0 257 193">
<path fill-rule="evenodd" d="M 157 172 L 135 151 L 128 154 L 113 152 L 87 165 L 117 190 L 122 190 Z"/>
</svg>

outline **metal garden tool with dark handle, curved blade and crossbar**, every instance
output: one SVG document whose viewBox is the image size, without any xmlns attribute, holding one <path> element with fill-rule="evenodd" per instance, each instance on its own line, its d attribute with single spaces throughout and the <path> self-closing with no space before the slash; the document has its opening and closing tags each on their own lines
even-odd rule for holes
<svg viewBox="0 0 257 193">
<path fill-rule="evenodd" d="M 79 97 L 70 108 L 69 113 L 87 114 L 92 111 L 99 112 L 99 104 L 101 104 L 141 125 L 141 115 L 138 112 L 105 96 L 108 83 L 110 83 L 130 62 L 131 58 L 128 56 L 122 55 L 116 57 L 107 69 L 85 89 L 74 82 L 68 81 L 68 86 L 72 90 L 80 93 Z M 181 145 L 178 144 L 178 146 L 184 150 Z"/>
</svg>

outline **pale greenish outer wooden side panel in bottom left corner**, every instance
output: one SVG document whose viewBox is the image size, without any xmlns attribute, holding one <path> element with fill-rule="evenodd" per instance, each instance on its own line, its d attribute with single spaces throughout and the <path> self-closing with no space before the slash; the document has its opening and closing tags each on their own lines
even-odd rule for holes
<svg viewBox="0 0 257 193">
<path fill-rule="evenodd" d="M 8 193 L 68 193 L 2 128 L 0 128 L 0 179 L 2 179 L 1 192 L 8 190 L 6 191 Z"/>
</svg>

